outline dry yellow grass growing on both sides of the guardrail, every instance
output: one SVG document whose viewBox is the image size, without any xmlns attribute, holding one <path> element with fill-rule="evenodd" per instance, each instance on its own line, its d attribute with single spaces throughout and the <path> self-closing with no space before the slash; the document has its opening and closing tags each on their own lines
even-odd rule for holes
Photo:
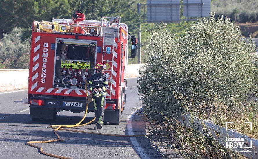
<svg viewBox="0 0 258 159">
<path fill-rule="evenodd" d="M 178 96 L 175 95 L 177 99 Z M 213 123 L 225 127 L 226 121 L 234 121 L 234 125 L 229 125 L 228 128 L 236 129 L 237 132 L 243 133 L 252 138 L 257 138 L 257 104 L 255 101 L 244 104 L 237 104 L 229 109 L 223 103 L 215 101 L 214 110 L 210 111 L 208 108 L 211 106 L 199 106 L 199 109 L 193 105 L 189 105 L 186 100 L 179 99 L 181 106 L 186 113 L 190 113 L 201 119 L 212 120 Z M 164 115 L 163 115 L 164 116 Z M 187 128 L 181 125 L 175 125 L 170 122 L 168 117 L 165 117 L 166 121 L 170 124 L 175 132 L 175 138 L 180 145 L 181 150 L 178 153 L 182 158 L 245 158 L 241 154 L 234 153 L 231 149 L 219 145 L 212 139 L 211 135 L 201 135 L 198 130 L 195 130 L 194 123 L 191 128 Z M 244 124 L 244 121 L 253 122 L 253 130 L 250 130 L 250 126 Z M 206 128 L 203 125 L 204 128 Z M 209 132 L 206 130 L 206 132 Z M 182 153 L 183 152 L 183 153 Z"/>
</svg>

